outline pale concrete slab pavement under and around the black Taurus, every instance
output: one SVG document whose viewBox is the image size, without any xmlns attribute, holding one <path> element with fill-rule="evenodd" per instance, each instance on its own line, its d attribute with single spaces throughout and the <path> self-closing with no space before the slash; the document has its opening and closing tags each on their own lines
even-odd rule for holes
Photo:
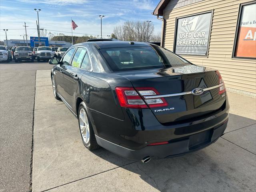
<svg viewBox="0 0 256 192">
<path fill-rule="evenodd" d="M 216 143 L 182 157 L 126 160 L 84 148 L 78 122 L 36 73 L 32 189 L 39 191 L 255 191 L 255 99 L 228 93 L 230 121 Z"/>
</svg>

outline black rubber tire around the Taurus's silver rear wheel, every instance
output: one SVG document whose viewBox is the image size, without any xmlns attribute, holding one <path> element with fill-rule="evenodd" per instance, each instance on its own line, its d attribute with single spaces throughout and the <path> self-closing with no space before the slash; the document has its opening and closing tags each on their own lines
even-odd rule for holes
<svg viewBox="0 0 256 192">
<path fill-rule="evenodd" d="M 90 140 L 87 144 L 84 141 L 84 138 L 82 136 L 82 132 L 81 132 L 81 129 L 80 129 L 79 119 L 80 119 L 80 110 L 81 109 L 84 109 L 84 111 L 86 113 L 86 116 L 87 116 L 87 119 L 88 119 L 89 130 L 90 130 Z M 100 146 L 98 145 L 98 143 L 96 141 L 95 134 L 94 134 L 94 131 L 93 131 L 93 128 L 92 128 L 92 124 L 91 124 L 90 118 L 88 116 L 88 113 L 87 113 L 86 106 L 85 106 L 84 102 L 81 102 L 80 105 L 79 105 L 79 108 L 78 108 L 78 126 L 79 126 L 79 132 L 80 132 L 80 136 L 82 138 L 82 142 L 83 142 L 84 146 L 90 151 L 100 148 Z"/>
</svg>

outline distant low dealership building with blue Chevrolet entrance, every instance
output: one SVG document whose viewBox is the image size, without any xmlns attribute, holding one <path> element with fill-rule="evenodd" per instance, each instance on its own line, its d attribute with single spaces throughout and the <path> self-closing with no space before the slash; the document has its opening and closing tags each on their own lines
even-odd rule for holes
<svg viewBox="0 0 256 192">
<path fill-rule="evenodd" d="M 7 40 L 8 46 L 26 46 L 26 39 L 10 39 Z M 4 40 L 4 44 L 6 45 L 6 40 Z M 30 37 L 28 39 L 28 46 L 38 47 L 38 46 L 50 46 L 50 47 L 70 47 L 71 43 L 65 41 L 49 41 L 48 37 L 40 37 L 40 43 L 38 37 Z"/>
</svg>

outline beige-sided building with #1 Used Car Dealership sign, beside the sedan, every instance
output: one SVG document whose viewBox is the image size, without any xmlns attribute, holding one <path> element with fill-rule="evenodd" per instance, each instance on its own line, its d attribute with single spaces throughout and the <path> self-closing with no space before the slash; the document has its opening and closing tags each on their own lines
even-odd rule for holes
<svg viewBox="0 0 256 192">
<path fill-rule="evenodd" d="M 161 45 L 220 71 L 227 90 L 256 97 L 256 1 L 161 0 Z"/>
</svg>

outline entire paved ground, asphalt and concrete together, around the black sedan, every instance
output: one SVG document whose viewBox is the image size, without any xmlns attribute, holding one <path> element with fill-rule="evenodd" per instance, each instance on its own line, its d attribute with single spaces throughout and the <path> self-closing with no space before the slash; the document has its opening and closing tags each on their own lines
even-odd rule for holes
<svg viewBox="0 0 256 192">
<path fill-rule="evenodd" d="M 0 64 L 0 142 L 4 154 L 0 191 L 27 191 L 31 189 L 29 184 L 34 192 L 256 191 L 254 98 L 228 92 L 228 128 L 211 146 L 142 164 L 103 148 L 86 150 L 76 118 L 63 102 L 54 99 L 49 70 L 52 66 L 43 62 L 14 65 Z M 13 78 L 8 80 L 10 76 Z M 15 115 L 18 120 L 10 119 Z M 28 181 L 28 188 L 7 188 L 15 186 L 13 179 L 21 186 Z"/>
</svg>

